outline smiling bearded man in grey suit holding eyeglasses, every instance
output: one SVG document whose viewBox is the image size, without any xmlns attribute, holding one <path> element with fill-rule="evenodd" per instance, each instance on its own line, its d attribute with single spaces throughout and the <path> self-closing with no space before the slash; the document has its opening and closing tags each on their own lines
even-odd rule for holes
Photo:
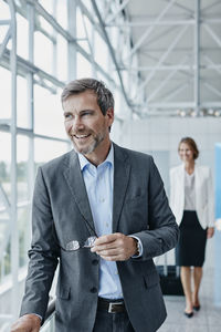
<svg viewBox="0 0 221 332">
<path fill-rule="evenodd" d="M 74 151 L 39 167 L 25 294 L 11 331 L 39 331 L 57 261 L 56 332 L 157 331 L 166 309 L 152 258 L 179 232 L 160 175 L 151 156 L 110 142 L 114 98 L 102 82 L 70 82 L 62 105 Z"/>
</svg>

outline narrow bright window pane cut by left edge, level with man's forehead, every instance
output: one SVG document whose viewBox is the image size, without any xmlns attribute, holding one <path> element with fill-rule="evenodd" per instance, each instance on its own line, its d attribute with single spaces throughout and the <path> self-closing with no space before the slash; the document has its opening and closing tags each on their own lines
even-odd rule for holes
<svg viewBox="0 0 221 332">
<path fill-rule="evenodd" d="M 11 74 L 0 66 L 0 120 L 11 117 Z"/>
</svg>

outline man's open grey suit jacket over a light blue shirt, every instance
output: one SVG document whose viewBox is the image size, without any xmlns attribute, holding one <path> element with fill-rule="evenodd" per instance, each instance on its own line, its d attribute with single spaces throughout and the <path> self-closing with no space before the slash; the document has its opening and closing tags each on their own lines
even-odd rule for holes
<svg viewBox="0 0 221 332">
<path fill-rule="evenodd" d="M 91 332 L 96 315 L 99 258 L 88 249 L 66 252 L 71 240 L 95 234 L 77 154 L 72 151 L 39 168 L 33 197 L 33 239 L 21 315 L 44 317 L 60 260 L 56 332 Z M 118 261 L 126 309 L 137 332 L 154 332 L 166 319 L 152 258 L 170 250 L 178 226 L 152 157 L 114 144 L 113 232 L 137 236 L 138 259 Z"/>
</svg>

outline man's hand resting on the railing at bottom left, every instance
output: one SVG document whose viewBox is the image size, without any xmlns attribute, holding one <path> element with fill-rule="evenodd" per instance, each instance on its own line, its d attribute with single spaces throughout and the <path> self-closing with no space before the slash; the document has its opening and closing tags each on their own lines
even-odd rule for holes
<svg viewBox="0 0 221 332">
<path fill-rule="evenodd" d="M 41 319 L 33 313 L 24 314 L 11 326 L 10 332 L 39 332 Z"/>
</svg>

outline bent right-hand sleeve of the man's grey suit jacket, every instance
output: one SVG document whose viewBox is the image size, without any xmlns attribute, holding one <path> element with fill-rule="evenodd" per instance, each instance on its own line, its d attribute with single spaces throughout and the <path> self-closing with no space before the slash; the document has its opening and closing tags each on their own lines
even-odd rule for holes
<svg viewBox="0 0 221 332">
<path fill-rule="evenodd" d="M 176 246 L 179 238 L 179 228 L 152 158 L 148 184 L 148 229 L 135 234 L 143 243 L 143 256 L 138 260 L 165 253 Z"/>
</svg>

